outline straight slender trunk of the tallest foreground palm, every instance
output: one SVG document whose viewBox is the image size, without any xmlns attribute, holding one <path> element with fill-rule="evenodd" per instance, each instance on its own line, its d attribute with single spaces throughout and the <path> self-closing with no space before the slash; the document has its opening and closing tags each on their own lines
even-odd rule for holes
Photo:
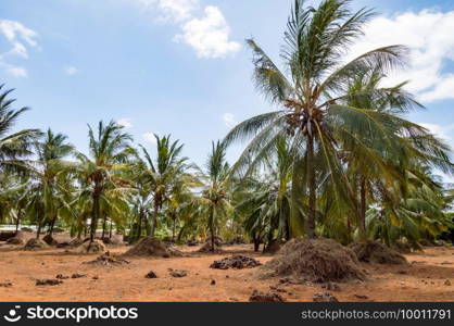
<svg viewBox="0 0 454 326">
<path fill-rule="evenodd" d="M 316 193 L 315 193 L 315 165 L 314 165 L 314 137 L 307 137 L 307 185 L 308 185 L 308 212 L 306 235 L 310 239 L 315 236 L 315 210 L 316 210 Z"/>
</svg>

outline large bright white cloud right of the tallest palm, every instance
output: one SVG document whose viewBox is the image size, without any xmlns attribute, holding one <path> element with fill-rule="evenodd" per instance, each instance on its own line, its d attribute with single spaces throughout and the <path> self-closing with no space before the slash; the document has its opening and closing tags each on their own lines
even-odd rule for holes
<svg viewBox="0 0 454 326">
<path fill-rule="evenodd" d="M 411 50 L 409 67 L 390 76 L 389 83 L 411 80 L 407 89 L 424 102 L 452 99 L 454 75 L 443 68 L 447 61 L 454 61 L 453 30 L 454 11 L 423 10 L 380 16 L 366 26 L 365 37 L 351 50 L 360 54 L 382 46 L 405 45 Z"/>
</svg>

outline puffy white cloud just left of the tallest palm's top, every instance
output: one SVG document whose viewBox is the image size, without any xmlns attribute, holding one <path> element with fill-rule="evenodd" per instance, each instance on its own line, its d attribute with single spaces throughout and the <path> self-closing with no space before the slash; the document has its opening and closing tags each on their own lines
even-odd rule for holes
<svg viewBox="0 0 454 326">
<path fill-rule="evenodd" d="M 191 46 L 199 58 L 226 58 L 240 50 L 240 43 L 229 40 L 230 27 L 220 10 L 209 5 L 202 18 L 193 18 L 182 26 L 182 35 L 175 39 Z"/>
</svg>

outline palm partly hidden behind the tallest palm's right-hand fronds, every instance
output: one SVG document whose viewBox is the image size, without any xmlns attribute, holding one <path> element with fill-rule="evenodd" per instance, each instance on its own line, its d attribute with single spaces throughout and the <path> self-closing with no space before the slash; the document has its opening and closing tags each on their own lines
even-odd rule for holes
<svg viewBox="0 0 454 326">
<path fill-rule="evenodd" d="M 374 90 L 379 88 L 383 75 L 377 70 L 364 71 L 351 77 L 348 92 L 363 92 L 365 96 L 351 98 L 346 101 L 349 106 L 365 108 L 375 112 L 386 112 L 393 118 L 388 121 L 383 128 L 393 136 L 393 147 L 398 151 L 389 150 L 390 146 L 381 141 L 381 135 L 373 133 L 374 129 L 364 130 L 361 125 L 350 129 L 348 137 L 342 137 L 342 162 L 346 164 L 346 174 L 355 196 L 357 195 L 357 227 L 362 240 L 366 235 L 366 210 L 368 192 L 393 190 L 404 198 L 405 192 L 400 191 L 407 183 L 407 170 L 412 165 L 423 164 L 441 168 L 452 173 L 453 164 L 450 162 L 450 148 L 430 133 L 417 126 L 409 126 L 407 130 L 417 131 L 409 137 L 402 133 L 401 121 L 407 108 L 399 98 L 375 98 Z M 394 89 L 402 90 L 405 84 L 396 85 Z M 395 122 L 398 122 L 395 124 Z M 354 141 L 352 139 L 356 138 Z M 423 143 L 423 146 L 421 146 Z M 364 164 L 367 159 L 369 164 Z M 388 191 L 389 192 L 389 191 Z M 390 193 L 382 197 L 392 197 Z"/>
</svg>

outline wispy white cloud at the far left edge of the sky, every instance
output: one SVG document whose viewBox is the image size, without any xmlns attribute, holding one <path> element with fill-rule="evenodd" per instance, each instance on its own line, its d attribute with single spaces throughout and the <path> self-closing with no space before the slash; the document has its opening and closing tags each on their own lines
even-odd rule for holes
<svg viewBox="0 0 454 326">
<path fill-rule="evenodd" d="M 14 77 L 27 77 L 24 67 L 8 63 L 8 57 L 28 59 L 28 48 L 37 47 L 38 34 L 15 21 L 0 20 L 0 36 L 10 43 L 10 50 L 0 54 L 0 65 Z"/>
</svg>

